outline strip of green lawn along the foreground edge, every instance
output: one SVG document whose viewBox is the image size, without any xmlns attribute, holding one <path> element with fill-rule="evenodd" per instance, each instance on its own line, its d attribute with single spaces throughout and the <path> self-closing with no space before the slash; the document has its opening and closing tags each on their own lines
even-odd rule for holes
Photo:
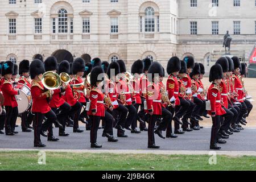
<svg viewBox="0 0 256 182">
<path fill-rule="evenodd" d="M 0 170 L 256 170 L 254 156 L 87 154 L 46 152 L 46 165 L 38 164 L 38 152 L 0 152 Z"/>
</svg>

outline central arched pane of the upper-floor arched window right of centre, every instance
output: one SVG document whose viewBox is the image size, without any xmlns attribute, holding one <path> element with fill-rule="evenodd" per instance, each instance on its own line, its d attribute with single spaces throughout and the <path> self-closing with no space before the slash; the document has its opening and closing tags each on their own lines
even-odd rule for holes
<svg viewBox="0 0 256 182">
<path fill-rule="evenodd" d="M 152 7 L 145 10 L 145 32 L 155 32 L 155 11 Z"/>
</svg>

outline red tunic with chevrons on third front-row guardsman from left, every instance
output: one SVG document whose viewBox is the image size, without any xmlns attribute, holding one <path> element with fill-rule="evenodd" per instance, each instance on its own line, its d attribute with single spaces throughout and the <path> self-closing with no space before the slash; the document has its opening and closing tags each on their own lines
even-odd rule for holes
<svg viewBox="0 0 256 182">
<path fill-rule="evenodd" d="M 153 112 L 155 115 L 162 115 L 162 97 L 160 93 L 159 84 L 151 82 L 147 86 L 147 113 Z"/>
</svg>

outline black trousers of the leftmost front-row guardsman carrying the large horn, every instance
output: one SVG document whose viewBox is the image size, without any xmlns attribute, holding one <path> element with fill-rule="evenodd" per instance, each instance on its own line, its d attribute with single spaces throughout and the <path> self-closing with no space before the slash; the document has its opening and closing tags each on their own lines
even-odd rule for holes
<svg viewBox="0 0 256 182">
<path fill-rule="evenodd" d="M 43 123 L 43 118 L 46 117 L 46 122 Z M 41 143 L 40 134 L 41 131 L 46 131 L 49 126 L 52 126 L 53 121 L 56 119 L 56 114 L 50 110 L 48 113 L 35 113 L 34 117 L 34 144 Z M 43 124 L 42 124 L 43 123 Z M 49 135 L 48 135 L 49 136 Z"/>
</svg>

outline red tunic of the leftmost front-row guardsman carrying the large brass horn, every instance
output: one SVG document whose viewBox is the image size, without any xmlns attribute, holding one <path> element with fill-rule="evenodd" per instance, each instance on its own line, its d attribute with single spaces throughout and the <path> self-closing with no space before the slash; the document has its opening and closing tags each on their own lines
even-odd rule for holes
<svg viewBox="0 0 256 182">
<path fill-rule="evenodd" d="M 42 82 L 32 81 L 31 95 L 32 95 L 32 112 L 34 113 L 48 113 L 51 107 L 48 105 L 48 94 L 42 96 L 42 93 L 46 92 Z"/>
</svg>

